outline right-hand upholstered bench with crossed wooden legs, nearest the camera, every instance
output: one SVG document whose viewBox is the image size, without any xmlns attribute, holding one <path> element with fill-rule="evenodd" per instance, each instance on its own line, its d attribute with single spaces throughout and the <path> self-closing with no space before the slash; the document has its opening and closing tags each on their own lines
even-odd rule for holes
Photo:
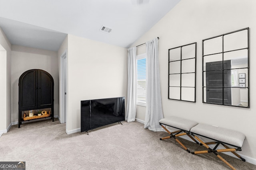
<svg viewBox="0 0 256 170">
<path fill-rule="evenodd" d="M 225 129 L 225 128 L 217 127 L 213 125 L 206 125 L 203 123 L 199 123 L 198 125 L 190 129 L 190 134 L 200 142 L 200 145 L 204 145 L 204 147 L 208 149 L 208 150 L 191 152 L 192 154 L 202 154 L 202 153 L 212 152 L 232 169 L 235 169 L 235 168 L 231 164 L 229 164 L 224 158 L 222 158 L 219 154 L 217 154 L 217 152 L 232 152 L 238 158 L 245 161 L 244 158 L 242 158 L 240 155 L 235 153 L 235 151 L 242 150 L 241 148 L 245 140 L 245 135 L 241 132 L 234 131 L 231 129 Z M 198 136 L 211 139 L 213 142 L 204 143 L 202 139 L 200 139 Z M 220 144 L 226 149 L 217 149 L 217 147 Z M 211 149 L 208 145 L 215 145 L 215 146 L 213 149 Z M 234 148 L 229 148 L 226 145 L 232 146 Z"/>
</svg>

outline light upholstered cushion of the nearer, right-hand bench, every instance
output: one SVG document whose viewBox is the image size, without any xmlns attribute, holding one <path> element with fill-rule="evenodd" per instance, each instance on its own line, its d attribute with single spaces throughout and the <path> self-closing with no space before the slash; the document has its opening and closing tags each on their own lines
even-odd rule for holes
<svg viewBox="0 0 256 170">
<path fill-rule="evenodd" d="M 245 139 L 245 135 L 238 131 L 206 125 L 203 123 L 199 123 L 195 127 L 192 127 L 190 132 L 209 137 L 217 141 L 235 145 L 237 147 L 242 147 Z"/>
</svg>

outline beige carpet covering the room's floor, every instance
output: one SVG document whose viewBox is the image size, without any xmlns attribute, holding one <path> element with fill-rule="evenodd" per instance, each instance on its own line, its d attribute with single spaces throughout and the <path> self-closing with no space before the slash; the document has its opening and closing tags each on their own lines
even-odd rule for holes
<svg viewBox="0 0 256 170">
<path fill-rule="evenodd" d="M 67 135 L 58 120 L 14 125 L 0 137 L 0 161 L 26 161 L 26 170 L 229 170 L 214 154 L 192 155 L 165 132 L 123 122 Z M 204 147 L 180 139 L 190 150 Z M 238 170 L 256 166 L 221 154 Z"/>
</svg>

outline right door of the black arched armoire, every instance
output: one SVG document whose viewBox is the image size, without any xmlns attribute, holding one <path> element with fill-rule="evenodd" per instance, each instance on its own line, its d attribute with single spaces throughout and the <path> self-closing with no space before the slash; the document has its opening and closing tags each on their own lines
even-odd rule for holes
<svg viewBox="0 0 256 170">
<path fill-rule="evenodd" d="M 53 103 L 53 79 L 44 70 L 38 70 L 38 107 L 45 107 Z"/>
</svg>

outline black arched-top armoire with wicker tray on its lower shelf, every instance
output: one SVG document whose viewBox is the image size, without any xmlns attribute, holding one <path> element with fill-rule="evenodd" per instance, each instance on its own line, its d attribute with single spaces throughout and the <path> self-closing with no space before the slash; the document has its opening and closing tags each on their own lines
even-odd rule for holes
<svg viewBox="0 0 256 170">
<path fill-rule="evenodd" d="M 18 86 L 18 128 L 22 121 L 32 119 L 51 117 L 54 121 L 54 81 L 48 72 L 40 69 L 27 70 L 20 76 Z M 33 114 L 29 114 L 29 111 Z"/>
</svg>

